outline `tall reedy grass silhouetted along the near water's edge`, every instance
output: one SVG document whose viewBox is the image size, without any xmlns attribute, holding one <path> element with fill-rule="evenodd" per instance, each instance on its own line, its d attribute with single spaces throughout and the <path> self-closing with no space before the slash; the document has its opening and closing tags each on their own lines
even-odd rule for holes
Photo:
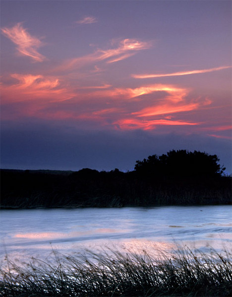
<svg viewBox="0 0 232 297">
<path fill-rule="evenodd" d="M 231 296 L 232 253 L 224 256 L 179 249 L 152 258 L 120 252 L 80 258 L 54 252 L 56 265 L 33 259 L 22 268 L 7 259 L 1 296 Z"/>
</svg>

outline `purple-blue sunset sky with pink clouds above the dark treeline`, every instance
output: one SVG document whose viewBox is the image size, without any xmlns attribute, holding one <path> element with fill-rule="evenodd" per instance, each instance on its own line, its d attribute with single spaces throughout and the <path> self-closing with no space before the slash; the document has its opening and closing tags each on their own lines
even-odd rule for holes
<svg viewBox="0 0 232 297">
<path fill-rule="evenodd" d="M 1 168 L 122 171 L 172 149 L 232 173 L 230 0 L 1 0 Z"/>
</svg>

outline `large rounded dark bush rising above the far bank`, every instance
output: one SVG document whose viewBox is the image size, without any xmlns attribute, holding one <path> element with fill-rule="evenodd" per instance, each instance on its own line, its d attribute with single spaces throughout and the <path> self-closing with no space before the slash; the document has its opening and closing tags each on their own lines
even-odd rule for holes
<svg viewBox="0 0 232 297">
<path fill-rule="evenodd" d="M 219 161 L 217 155 L 206 152 L 170 150 L 167 154 L 137 160 L 134 169 L 145 176 L 221 176 L 226 168 L 221 167 Z"/>
</svg>

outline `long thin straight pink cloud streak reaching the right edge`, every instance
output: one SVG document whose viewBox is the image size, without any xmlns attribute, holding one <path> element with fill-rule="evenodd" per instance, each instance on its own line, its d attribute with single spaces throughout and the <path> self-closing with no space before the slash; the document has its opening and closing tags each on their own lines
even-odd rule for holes
<svg viewBox="0 0 232 297">
<path fill-rule="evenodd" d="M 189 70 L 189 71 L 180 71 L 180 72 L 173 72 L 173 73 L 162 73 L 162 74 L 132 74 L 134 78 L 155 78 L 155 77 L 165 77 L 165 76 L 180 76 L 180 75 L 189 75 L 189 74 L 198 74 L 198 73 L 206 73 L 212 71 L 218 71 L 222 69 L 231 68 L 231 66 L 222 66 L 210 69 L 202 69 L 202 70 Z"/>
</svg>

